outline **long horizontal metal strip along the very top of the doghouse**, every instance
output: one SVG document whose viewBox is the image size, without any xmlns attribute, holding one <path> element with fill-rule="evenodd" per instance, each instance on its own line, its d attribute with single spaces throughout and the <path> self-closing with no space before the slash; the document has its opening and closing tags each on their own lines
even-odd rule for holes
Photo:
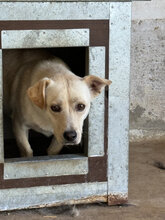
<svg viewBox="0 0 165 220">
<path fill-rule="evenodd" d="M 109 19 L 107 2 L 2 2 L 0 20 Z"/>
</svg>

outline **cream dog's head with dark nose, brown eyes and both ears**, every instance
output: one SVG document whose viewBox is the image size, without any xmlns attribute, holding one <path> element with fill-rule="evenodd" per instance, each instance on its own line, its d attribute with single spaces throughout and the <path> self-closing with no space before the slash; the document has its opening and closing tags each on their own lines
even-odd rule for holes
<svg viewBox="0 0 165 220">
<path fill-rule="evenodd" d="M 50 118 L 54 135 L 63 145 L 79 144 L 90 102 L 111 81 L 96 76 L 57 75 L 28 89 L 30 100 Z M 99 109 L 98 109 L 99 111 Z"/>
</svg>

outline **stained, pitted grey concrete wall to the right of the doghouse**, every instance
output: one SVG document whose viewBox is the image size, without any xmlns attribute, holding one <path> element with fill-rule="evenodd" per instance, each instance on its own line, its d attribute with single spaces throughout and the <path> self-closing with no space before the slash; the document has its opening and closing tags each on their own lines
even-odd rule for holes
<svg viewBox="0 0 165 220">
<path fill-rule="evenodd" d="M 165 138 L 165 1 L 133 2 L 130 140 Z"/>
</svg>

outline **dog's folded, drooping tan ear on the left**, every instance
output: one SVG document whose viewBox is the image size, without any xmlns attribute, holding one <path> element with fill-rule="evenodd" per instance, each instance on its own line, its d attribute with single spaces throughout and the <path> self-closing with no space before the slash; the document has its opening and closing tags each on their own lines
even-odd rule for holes
<svg viewBox="0 0 165 220">
<path fill-rule="evenodd" d="M 50 79 L 45 77 L 27 90 L 30 100 L 41 109 L 45 108 L 45 89 L 49 83 Z"/>
</svg>

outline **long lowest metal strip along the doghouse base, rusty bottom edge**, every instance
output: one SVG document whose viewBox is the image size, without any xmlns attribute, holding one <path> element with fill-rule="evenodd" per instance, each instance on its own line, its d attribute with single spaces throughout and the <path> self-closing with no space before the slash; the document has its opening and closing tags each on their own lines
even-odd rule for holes
<svg viewBox="0 0 165 220">
<path fill-rule="evenodd" d="M 106 195 L 106 182 L 5 189 L 0 191 L 0 210 L 72 204 L 82 199 L 90 202 L 91 197 L 96 198 L 94 202 L 100 201 L 97 196 Z"/>
</svg>

